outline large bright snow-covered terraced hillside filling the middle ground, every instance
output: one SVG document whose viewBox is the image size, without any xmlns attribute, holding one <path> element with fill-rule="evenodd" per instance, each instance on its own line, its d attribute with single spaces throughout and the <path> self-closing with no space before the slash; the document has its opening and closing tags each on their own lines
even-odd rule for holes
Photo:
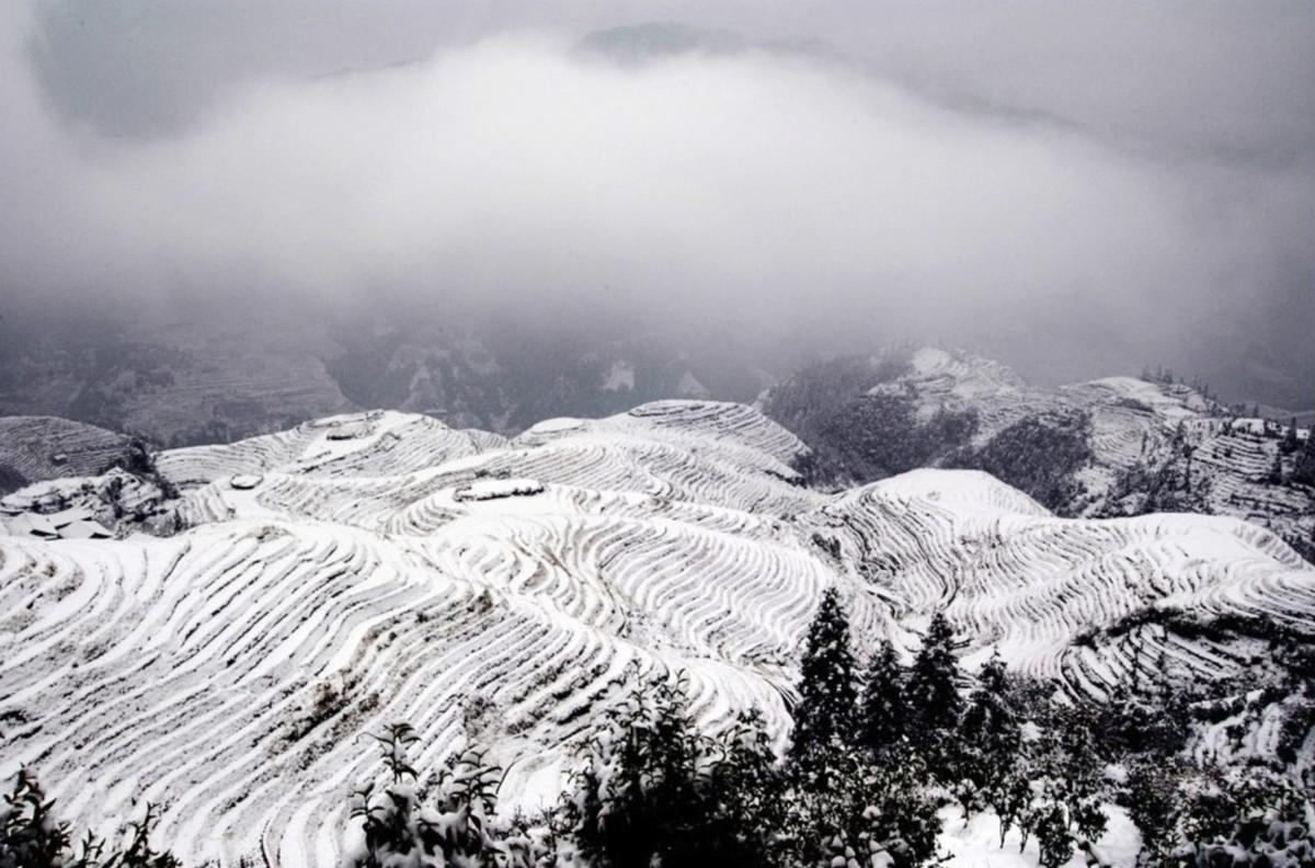
<svg viewBox="0 0 1315 868">
<path fill-rule="evenodd" d="M 327 867 L 388 722 L 418 765 L 489 746 L 526 808 L 631 664 L 686 671 L 702 726 L 757 706 L 784 740 L 828 587 L 863 652 L 945 610 L 965 659 L 1093 696 L 1148 656 L 1261 677 L 1264 638 L 1228 625 L 1315 614 L 1315 568 L 1253 523 L 1056 518 L 976 471 L 827 494 L 810 460 L 706 401 L 510 441 L 380 412 L 166 452 L 176 535 L 0 537 L 0 772 L 33 764 L 93 826 L 160 801 L 189 863 Z M 1256 731 L 1211 738 L 1272 750 Z"/>
</svg>

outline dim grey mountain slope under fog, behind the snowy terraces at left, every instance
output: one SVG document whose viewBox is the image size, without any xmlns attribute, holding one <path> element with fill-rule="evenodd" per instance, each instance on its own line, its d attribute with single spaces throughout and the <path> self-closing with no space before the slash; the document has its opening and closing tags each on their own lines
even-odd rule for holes
<svg viewBox="0 0 1315 868">
<path fill-rule="evenodd" d="M 0 331 L 0 416 L 66 417 L 171 447 L 375 406 L 517 433 L 551 416 L 608 416 L 658 398 L 747 400 L 767 385 L 736 352 L 698 349 L 698 339 L 433 313 L 331 321 L 322 312 L 225 310 Z"/>
</svg>

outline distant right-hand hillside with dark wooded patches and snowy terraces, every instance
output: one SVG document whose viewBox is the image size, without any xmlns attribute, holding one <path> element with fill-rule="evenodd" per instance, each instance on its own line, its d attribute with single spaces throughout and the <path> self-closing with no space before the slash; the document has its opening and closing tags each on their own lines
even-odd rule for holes
<svg viewBox="0 0 1315 868">
<path fill-rule="evenodd" d="M 1294 477 L 1286 426 L 1239 417 L 1182 383 L 1118 376 L 1051 389 L 989 359 L 920 349 L 815 366 L 759 406 L 817 450 L 823 484 L 978 468 L 1064 516 L 1233 516 L 1315 559 L 1315 487 Z M 1294 435 L 1302 443 L 1308 429 Z"/>
</svg>

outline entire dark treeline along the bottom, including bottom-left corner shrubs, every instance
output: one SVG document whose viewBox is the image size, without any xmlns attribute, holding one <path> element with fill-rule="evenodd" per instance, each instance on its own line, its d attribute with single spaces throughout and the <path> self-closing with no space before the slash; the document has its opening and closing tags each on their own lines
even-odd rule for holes
<svg viewBox="0 0 1315 868">
<path fill-rule="evenodd" d="M 707 735 L 681 677 L 635 672 L 594 723 L 568 792 L 533 817 L 500 815 L 501 769 L 476 747 L 417 769 L 417 735 L 389 726 L 375 736 L 389 779 L 354 796 L 343 863 L 906 868 L 944 857 L 947 823 L 989 814 L 1001 848 L 1057 868 L 1095 860 L 1120 806 L 1141 835 L 1139 865 L 1315 864 L 1311 792 L 1290 775 L 1290 746 L 1269 764 L 1195 761 L 1189 733 L 1210 701 L 1149 677 L 1106 702 L 1064 701 L 998 656 L 969 677 L 957 644 L 938 614 L 910 665 L 885 640 L 860 663 L 828 591 L 806 637 L 784 755 L 760 711 Z M 1315 667 L 1298 654 L 1290 671 L 1285 689 L 1315 708 Z M 113 854 L 95 838 L 78 851 L 28 775 L 4 811 L 0 868 L 178 864 L 147 842 L 150 808 Z"/>
</svg>

